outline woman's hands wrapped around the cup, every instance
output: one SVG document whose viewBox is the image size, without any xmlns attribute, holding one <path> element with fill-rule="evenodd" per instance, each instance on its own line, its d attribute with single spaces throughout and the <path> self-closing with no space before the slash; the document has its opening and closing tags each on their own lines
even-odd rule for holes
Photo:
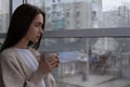
<svg viewBox="0 0 130 87">
<path fill-rule="evenodd" d="M 46 55 L 43 53 L 40 54 L 38 70 L 40 70 L 43 74 L 47 74 L 58 66 L 58 54 L 52 53 L 48 55 L 48 58 L 44 57 Z"/>
</svg>

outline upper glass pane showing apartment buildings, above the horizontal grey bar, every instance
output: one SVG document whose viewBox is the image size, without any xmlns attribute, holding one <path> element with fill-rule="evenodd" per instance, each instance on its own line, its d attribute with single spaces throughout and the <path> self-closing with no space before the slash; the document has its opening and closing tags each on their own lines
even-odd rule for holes
<svg viewBox="0 0 130 87">
<path fill-rule="evenodd" d="M 130 27 L 130 0 L 28 0 L 28 2 L 41 9 L 44 7 L 47 30 Z"/>
</svg>

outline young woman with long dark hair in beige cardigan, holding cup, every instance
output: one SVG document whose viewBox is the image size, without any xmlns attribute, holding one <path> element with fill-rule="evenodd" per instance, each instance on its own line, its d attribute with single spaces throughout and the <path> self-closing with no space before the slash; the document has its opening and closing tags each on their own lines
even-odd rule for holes
<svg viewBox="0 0 130 87">
<path fill-rule="evenodd" d="M 44 60 L 37 52 L 44 23 L 44 12 L 35 5 L 14 11 L 0 50 L 0 87 L 55 87 L 50 72 L 58 65 L 57 54 Z"/>
</svg>

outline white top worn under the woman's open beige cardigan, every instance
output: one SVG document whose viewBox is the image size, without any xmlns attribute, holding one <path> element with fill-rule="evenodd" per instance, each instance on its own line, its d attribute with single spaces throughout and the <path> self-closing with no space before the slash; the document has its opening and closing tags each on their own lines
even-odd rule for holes
<svg viewBox="0 0 130 87">
<path fill-rule="evenodd" d="M 24 62 L 30 67 L 30 70 L 32 70 L 34 72 L 37 71 L 38 61 L 35 58 L 35 55 L 32 54 L 32 52 L 30 52 L 29 49 L 17 49 L 16 48 L 16 50 L 17 50 L 20 57 L 22 58 L 22 60 L 24 60 Z M 43 79 L 41 82 L 40 87 L 46 87 Z"/>
</svg>

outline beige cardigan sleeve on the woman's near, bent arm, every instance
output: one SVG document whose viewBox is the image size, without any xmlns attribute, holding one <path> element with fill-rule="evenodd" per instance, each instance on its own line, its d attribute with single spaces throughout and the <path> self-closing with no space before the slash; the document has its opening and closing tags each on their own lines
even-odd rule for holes
<svg viewBox="0 0 130 87">
<path fill-rule="evenodd" d="M 0 55 L 1 79 L 4 87 L 38 87 L 43 78 L 40 71 L 32 73 L 29 79 L 21 73 L 18 62 L 12 55 Z"/>
</svg>

